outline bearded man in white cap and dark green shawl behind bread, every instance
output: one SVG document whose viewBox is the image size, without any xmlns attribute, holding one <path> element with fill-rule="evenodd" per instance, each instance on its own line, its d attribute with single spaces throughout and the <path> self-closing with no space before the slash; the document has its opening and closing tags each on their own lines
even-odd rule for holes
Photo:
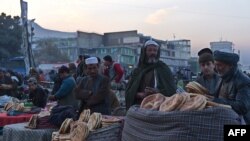
<svg viewBox="0 0 250 141">
<path fill-rule="evenodd" d="M 160 47 L 148 40 L 141 48 L 137 68 L 131 73 L 125 100 L 127 110 L 134 104 L 141 104 L 143 98 L 154 93 L 171 96 L 176 92 L 176 85 L 169 67 L 160 58 Z"/>
</svg>

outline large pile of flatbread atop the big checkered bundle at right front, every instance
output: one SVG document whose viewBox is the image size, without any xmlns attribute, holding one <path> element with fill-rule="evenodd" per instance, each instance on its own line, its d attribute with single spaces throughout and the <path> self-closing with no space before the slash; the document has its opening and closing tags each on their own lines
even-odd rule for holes
<svg viewBox="0 0 250 141">
<path fill-rule="evenodd" d="M 159 98 L 159 94 L 153 94 L 145 97 L 140 107 L 149 110 L 158 109 L 162 112 L 203 110 L 204 108 L 212 106 L 231 108 L 229 105 L 218 104 L 208 101 L 207 99 L 208 98 L 205 95 L 185 93 L 174 94 L 171 97 L 165 97 L 164 101 L 162 101 L 162 98 Z"/>
</svg>

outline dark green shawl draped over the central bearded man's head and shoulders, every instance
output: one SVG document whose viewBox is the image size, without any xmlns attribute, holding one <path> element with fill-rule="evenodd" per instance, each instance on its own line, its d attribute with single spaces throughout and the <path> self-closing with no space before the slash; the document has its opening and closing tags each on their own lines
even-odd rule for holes
<svg viewBox="0 0 250 141">
<path fill-rule="evenodd" d="M 160 48 L 158 49 L 157 59 L 160 58 Z M 141 48 L 140 59 L 138 63 L 138 67 L 131 73 L 131 78 L 127 84 L 126 92 L 125 92 L 125 100 L 126 100 L 126 108 L 127 110 L 132 106 L 137 104 L 136 95 L 139 92 L 139 87 L 143 81 L 143 78 L 149 71 L 156 72 L 157 79 L 157 89 L 160 93 L 165 96 L 172 96 L 176 92 L 176 85 L 174 81 L 173 74 L 168 67 L 162 61 L 158 61 L 157 63 L 147 63 L 146 57 L 146 47 Z"/>
</svg>

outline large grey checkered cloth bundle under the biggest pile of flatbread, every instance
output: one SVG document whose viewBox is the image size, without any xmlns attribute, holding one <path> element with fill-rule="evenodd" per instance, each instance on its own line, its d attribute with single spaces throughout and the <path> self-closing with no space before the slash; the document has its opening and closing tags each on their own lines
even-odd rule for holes
<svg viewBox="0 0 250 141">
<path fill-rule="evenodd" d="M 232 109 L 160 112 L 132 106 L 127 112 L 122 141 L 223 141 L 224 125 L 240 125 Z"/>
</svg>

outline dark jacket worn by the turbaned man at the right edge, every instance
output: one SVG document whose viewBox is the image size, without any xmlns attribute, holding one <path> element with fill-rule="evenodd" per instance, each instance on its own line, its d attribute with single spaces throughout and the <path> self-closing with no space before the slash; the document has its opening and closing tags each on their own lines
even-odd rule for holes
<svg viewBox="0 0 250 141">
<path fill-rule="evenodd" d="M 224 97 L 219 98 L 220 90 L 226 87 Z M 250 124 L 250 79 L 237 67 L 233 68 L 218 82 L 215 102 L 228 104 L 239 115 L 243 115 L 247 124 Z"/>
</svg>

